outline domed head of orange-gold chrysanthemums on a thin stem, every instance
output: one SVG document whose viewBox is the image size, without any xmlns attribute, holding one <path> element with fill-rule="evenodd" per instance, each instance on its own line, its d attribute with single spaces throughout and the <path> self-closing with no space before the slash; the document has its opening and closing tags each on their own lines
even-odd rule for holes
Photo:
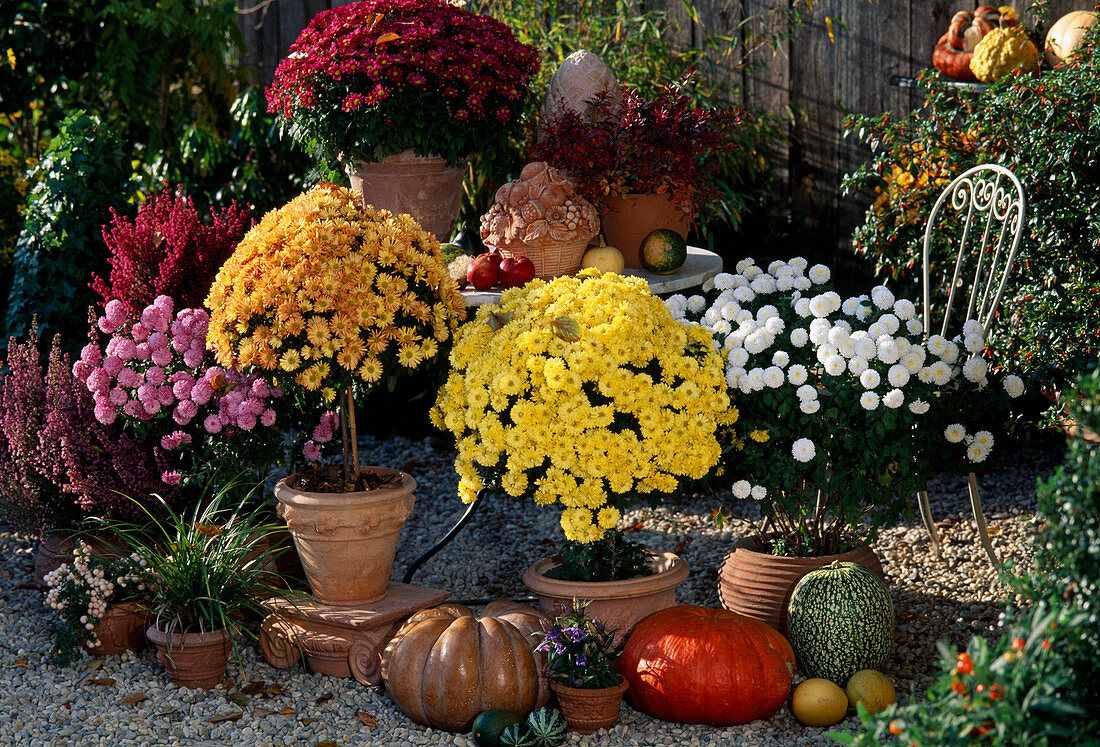
<svg viewBox="0 0 1100 747">
<path fill-rule="evenodd" d="M 326 402 L 431 359 L 465 315 L 431 235 L 332 184 L 264 216 L 206 306 L 221 365 L 287 376 Z"/>
</svg>

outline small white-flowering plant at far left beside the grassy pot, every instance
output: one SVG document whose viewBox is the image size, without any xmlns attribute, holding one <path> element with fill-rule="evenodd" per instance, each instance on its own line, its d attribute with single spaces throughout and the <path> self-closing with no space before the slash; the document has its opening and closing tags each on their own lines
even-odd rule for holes
<svg viewBox="0 0 1100 747">
<path fill-rule="evenodd" d="M 96 625 L 111 606 L 146 594 L 145 584 L 133 573 L 134 558 L 105 559 L 77 540 L 73 562 L 46 574 L 45 605 L 58 617 L 54 662 L 67 667 L 80 655 L 79 647 L 97 648 Z"/>
</svg>

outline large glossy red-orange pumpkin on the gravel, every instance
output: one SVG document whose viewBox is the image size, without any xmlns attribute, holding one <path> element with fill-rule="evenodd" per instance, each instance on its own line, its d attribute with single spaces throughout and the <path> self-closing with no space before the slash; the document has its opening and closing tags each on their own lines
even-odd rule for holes
<svg viewBox="0 0 1100 747">
<path fill-rule="evenodd" d="M 787 702 L 794 652 L 759 620 L 681 604 L 638 623 L 619 662 L 639 711 L 729 726 L 767 718 Z"/>
</svg>

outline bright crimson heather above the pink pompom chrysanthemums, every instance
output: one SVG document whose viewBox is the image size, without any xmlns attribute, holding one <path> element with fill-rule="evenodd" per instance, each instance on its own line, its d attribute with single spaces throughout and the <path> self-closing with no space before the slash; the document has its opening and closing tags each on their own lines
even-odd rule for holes
<svg viewBox="0 0 1100 747">
<path fill-rule="evenodd" d="M 252 227 L 249 210 L 237 202 L 211 209 L 206 224 L 191 199 L 170 188 L 144 202 L 132 219 L 111 213 L 114 219 L 103 227 L 110 277 L 92 275 L 91 287 L 105 306 L 121 301 L 128 316 L 157 296 L 170 297 L 179 308 L 202 306 L 218 268 Z"/>
</svg>

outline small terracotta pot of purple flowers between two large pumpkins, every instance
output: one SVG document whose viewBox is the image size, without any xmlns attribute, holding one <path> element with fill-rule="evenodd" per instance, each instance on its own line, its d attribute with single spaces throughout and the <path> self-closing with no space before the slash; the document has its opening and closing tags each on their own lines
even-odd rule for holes
<svg viewBox="0 0 1100 747">
<path fill-rule="evenodd" d="M 618 672 L 615 631 L 586 614 L 587 605 L 573 600 L 552 622 L 542 622 L 542 640 L 535 650 L 547 655 L 543 670 L 558 697 L 570 732 L 592 734 L 618 721 L 627 690 Z"/>
</svg>

